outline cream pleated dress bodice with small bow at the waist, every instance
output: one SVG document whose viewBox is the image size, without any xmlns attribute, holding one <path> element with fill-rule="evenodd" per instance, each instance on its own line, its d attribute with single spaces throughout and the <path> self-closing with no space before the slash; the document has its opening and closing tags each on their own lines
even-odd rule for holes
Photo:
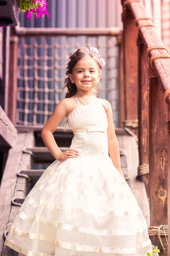
<svg viewBox="0 0 170 256">
<path fill-rule="evenodd" d="M 105 108 L 98 98 L 94 105 L 80 105 L 78 98 L 77 102 L 77 108 L 68 115 L 68 123 L 74 132 L 70 148 L 92 156 L 107 155 L 108 119 Z"/>
</svg>

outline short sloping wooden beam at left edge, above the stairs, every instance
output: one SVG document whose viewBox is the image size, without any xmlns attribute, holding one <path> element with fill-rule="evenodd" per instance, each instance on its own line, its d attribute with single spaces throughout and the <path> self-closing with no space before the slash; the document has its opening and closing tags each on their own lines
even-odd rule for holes
<svg viewBox="0 0 170 256">
<path fill-rule="evenodd" d="M 0 145 L 2 147 L 13 147 L 16 138 L 17 129 L 0 106 Z"/>
</svg>

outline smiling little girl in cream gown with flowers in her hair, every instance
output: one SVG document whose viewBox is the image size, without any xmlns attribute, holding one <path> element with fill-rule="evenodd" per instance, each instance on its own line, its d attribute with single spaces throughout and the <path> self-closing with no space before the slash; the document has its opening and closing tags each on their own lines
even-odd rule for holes
<svg viewBox="0 0 170 256">
<path fill-rule="evenodd" d="M 105 65 L 98 53 L 81 47 L 70 54 L 65 99 L 42 129 L 42 140 L 56 160 L 26 197 L 5 241 L 23 255 L 152 252 L 146 221 L 121 170 L 111 105 L 95 96 Z M 61 152 L 53 132 L 64 117 L 74 138 Z"/>
</svg>

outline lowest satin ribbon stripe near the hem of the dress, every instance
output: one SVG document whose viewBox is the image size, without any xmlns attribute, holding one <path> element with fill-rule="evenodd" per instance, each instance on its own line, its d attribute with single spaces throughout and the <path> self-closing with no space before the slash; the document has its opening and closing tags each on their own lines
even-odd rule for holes
<svg viewBox="0 0 170 256">
<path fill-rule="evenodd" d="M 49 238 L 45 235 L 36 234 L 36 233 L 24 233 L 20 230 L 14 228 L 14 234 L 20 237 L 25 237 L 34 240 L 46 241 L 49 244 L 54 244 L 56 247 L 61 247 L 69 250 L 85 251 L 85 252 L 96 252 L 96 253 L 136 253 L 136 248 L 146 247 L 151 243 L 150 239 L 144 241 L 143 243 L 136 244 L 136 248 L 119 248 L 119 247 L 98 247 L 82 244 L 71 244 L 67 242 L 57 241 L 56 239 Z M 6 245 L 8 242 L 6 240 Z"/>
</svg>

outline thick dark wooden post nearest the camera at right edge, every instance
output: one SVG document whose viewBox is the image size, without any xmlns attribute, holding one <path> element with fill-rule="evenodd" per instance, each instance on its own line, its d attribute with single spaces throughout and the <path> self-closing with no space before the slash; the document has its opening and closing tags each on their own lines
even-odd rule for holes
<svg viewBox="0 0 170 256">
<path fill-rule="evenodd" d="M 157 78 L 150 79 L 149 98 L 150 226 L 159 227 L 167 225 L 167 105 Z M 159 246 L 161 256 L 168 255 L 157 235 L 150 239 Z M 167 248 L 165 236 L 161 240 Z"/>
</svg>

